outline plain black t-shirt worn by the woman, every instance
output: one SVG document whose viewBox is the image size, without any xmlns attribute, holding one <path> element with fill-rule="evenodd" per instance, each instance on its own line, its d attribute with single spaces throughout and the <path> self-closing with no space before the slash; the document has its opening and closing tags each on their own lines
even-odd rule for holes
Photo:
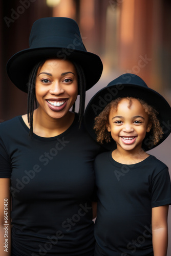
<svg viewBox="0 0 171 256">
<path fill-rule="evenodd" d="M 11 178 L 17 256 L 93 255 L 93 161 L 101 148 L 78 125 L 75 115 L 52 138 L 30 138 L 21 116 L 0 125 L 0 178 Z"/>
</svg>

